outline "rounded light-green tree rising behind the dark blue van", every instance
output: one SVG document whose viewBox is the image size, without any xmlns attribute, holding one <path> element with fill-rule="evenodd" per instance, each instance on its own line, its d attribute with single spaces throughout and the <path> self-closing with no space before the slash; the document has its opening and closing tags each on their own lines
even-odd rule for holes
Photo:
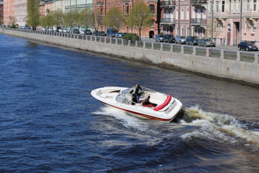
<svg viewBox="0 0 259 173">
<path fill-rule="evenodd" d="M 117 29 L 117 38 L 119 38 L 119 28 L 124 23 L 124 18 L 122 16 L 121 10 L 119 8 L 113 7 L 105 15 L 104 25 L 109 28 Z M 112 36 L 111 36 L 112 37 Z"/>
</svg>

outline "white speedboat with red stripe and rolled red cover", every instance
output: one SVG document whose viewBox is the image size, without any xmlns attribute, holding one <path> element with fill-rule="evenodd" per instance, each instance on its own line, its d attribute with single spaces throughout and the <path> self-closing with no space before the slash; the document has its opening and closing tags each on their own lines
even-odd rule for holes
<svg viewBox="0 0 259 173">
<path fill-rule="evenodd" d="M 117 108 L 130 115 L 159 121 L 171 121 L 182 109 L 182 103 L 171 95 L 141 87 L 140 104 L 131 88 L 107 86 L 94 89 L 91 94 L 104 105 Z"/>
</svg>

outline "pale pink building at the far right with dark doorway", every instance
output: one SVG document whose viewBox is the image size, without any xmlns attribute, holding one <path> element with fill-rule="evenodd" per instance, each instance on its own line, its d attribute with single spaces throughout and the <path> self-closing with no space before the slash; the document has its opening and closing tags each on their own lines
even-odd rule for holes
<svg viewBox="0 0 259 173">
<path fill-rule="evenodd" d="M 211 17 L 213 11 L 213 18 L 221 28 L 221 44 L 236 46 L 241 41 L 252 41 L 259 45 L 257 0 L 214 0 L 209 5 L 208 17 Z"/>
</svg>

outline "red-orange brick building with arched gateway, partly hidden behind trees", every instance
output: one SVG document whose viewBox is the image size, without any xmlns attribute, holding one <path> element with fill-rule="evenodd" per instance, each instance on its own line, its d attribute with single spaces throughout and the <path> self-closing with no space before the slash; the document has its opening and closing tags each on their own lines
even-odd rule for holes
<svg viewBox="0 0 259 173">
<path fill-rule="evenodd" d="M 145 0 L 144 1 L 151 10 L 154 10 L 153 22 L 151 23 L 150 27 L 141 31 L 141 36 L 153 38 L 154 35 L 160 33 L 159 29 L 159 18 L 161 14 L 161 8 L 158 5 L 158 0 Z M 137 3 L 136 0 L 118 0 L 118 1 L 111 1 L 111 0 L 94 0 L 94 12 L 97 16 L 105 16 L 105 14 L 113 7 L 117 7 L 122 10 L 124 15 L 129 15 L 129 12 L 132 6 Z M 99 27 L 99 31 L 106 31 L 106 26 L 101 25 Z M 123 26 L 119 29 L 119 32 L 126 32 L 126 33 L 136 33 L 139 35 L 138 29 L 131 29 L 128 26 Z"/>
</svg>

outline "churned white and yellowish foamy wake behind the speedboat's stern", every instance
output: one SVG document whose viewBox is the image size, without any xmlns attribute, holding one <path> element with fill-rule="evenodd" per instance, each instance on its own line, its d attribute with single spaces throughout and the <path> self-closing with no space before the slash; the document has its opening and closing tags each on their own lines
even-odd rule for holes
<svg viewBox="0 0 259 173">
<path fill-rule="evenodd" d="M 200 127 L 191 133 L 182 135 L 184 139 L 204 137 L 220 142 L 243 143 L 259 148 L 259 129 L 256 124 L 235 119 L 232 116 L 202 111 L 199 106 L 183 108 L 177 123 Z"/>
</svg>

